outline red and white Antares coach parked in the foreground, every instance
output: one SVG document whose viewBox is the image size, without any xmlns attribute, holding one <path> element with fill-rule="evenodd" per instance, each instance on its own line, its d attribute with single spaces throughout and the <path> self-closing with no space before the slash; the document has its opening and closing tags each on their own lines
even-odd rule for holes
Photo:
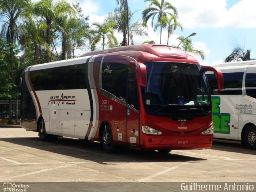
<svg viewBox="0 0 256 192">
<path fill-rule="evenodd" d="M 212 146 L 212 103 L 205 71 L 180 49 L 132 45 L 29 66 L 21 123 L 41 140 L 58 136 L 170 152 Z"/>
</svg>

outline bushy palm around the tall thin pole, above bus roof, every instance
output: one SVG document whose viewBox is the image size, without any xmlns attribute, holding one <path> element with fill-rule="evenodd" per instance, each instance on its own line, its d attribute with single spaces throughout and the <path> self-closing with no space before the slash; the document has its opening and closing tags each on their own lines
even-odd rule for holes
<svg viewBox="0 0 256 192">
<path fill-rule="evenodd" d="M 108 14 L 106 17 L 106 22 L 114 22 L 116 23 L 115 26 L 113 26 L 114 30 L 117 30 L 119 33 L 123 34 L 123 40 L 120 43 L 120 46 L 126 46 L 131 42 L 131 44 L 134 44 L 133 42 L 133 36 L 138 35 L 138 36 L 148 36 L 148 33 L 143 30 L 143 23 L 142 21 L 136 21 L 135 23 L 132 22 L 132 16 L 134 15 L 135 12 L 131 12 L 130 9 L 128 9 L 128 20 L 129 23 L 127 25 L 126 21 L 126 10 L 122 10 L 120 8 L 115 8 L 114 12 Z M 128 34 L 128 28 L 129 26 L 129 42 L 126 40 L 126 36 Z"/>
</svg>

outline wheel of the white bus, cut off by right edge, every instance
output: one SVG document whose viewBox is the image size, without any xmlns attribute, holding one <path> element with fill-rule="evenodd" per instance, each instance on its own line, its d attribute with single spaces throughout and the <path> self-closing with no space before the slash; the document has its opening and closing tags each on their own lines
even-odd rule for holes
<svg viewBox="0 0 256 192">
<path fill-rule="evenodd" d="M 249 149 L 256 149 L 256 127 L 248 126 L 244 132 L 244 144 Z"/>
</svg>

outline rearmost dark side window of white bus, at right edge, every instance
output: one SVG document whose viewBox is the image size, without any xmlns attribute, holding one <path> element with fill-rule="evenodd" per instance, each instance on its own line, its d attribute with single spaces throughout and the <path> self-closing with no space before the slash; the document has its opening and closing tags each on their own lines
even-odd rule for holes
<svg viewBox="0 0 256 192">
<path fill-rule="evenodd" d="M 245 76 L 246 95 L 256 98 L 256 67 L 249 67 Z"/>
</svg>

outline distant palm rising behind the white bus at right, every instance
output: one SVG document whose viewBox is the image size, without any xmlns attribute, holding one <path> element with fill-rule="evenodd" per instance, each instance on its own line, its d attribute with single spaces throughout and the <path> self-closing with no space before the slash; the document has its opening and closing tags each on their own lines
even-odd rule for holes
<svg viewBox="0 0 256 192">
<path fill-rule="evenodd" d="M 250 53 L 251 53 L 250 49 L 247 49 L 246 51 L 244 51 L 244 47 L 236 45 L 233 52 L 226 57 L 224 62 L 251 60 Z"/>
</svg>

